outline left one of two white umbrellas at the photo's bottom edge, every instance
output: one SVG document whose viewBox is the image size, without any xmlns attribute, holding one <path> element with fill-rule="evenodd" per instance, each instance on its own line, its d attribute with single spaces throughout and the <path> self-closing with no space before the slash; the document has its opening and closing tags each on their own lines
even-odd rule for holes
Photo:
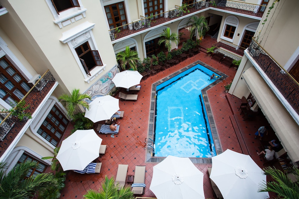
<svg viewBox="0 0 299 199">
<path fill-rule="evenodd" d="M 149 189 L 158 199 L 201 199 L 205 198 L 203 176 L 189 158 L 168 155 L 153 167 Z"/>
</svg>

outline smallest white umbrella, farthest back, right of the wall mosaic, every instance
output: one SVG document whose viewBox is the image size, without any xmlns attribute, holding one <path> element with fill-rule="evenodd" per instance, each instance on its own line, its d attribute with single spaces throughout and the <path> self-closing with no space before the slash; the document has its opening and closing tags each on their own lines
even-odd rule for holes
<svg viewBox="0 0 299 199">
<path fill-rule="evenodd" d="M 140 84 L 141 78 L 142 75 L 137 70 L 125 70 L 116 73 L 112 81 L 116 87 L 130 88 Z"/>
</svg>

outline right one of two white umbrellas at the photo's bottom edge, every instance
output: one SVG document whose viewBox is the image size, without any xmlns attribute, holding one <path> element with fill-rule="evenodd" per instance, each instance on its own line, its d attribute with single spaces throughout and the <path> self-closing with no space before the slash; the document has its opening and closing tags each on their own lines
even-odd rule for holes
<svg viewBox="0 0 299 199">
<path fill-rule="evenodd" d="M 223 198 L 269 198 L 268 192 L 257 192 L 258 184 L 266 181 L 262 171 L 249 155 L 227 149 L 212 157 L 210 178 Z"/>
</svg>

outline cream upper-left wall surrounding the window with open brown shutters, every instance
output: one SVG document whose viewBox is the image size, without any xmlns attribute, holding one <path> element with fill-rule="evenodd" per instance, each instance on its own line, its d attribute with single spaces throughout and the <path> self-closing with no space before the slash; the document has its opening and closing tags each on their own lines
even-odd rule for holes
<svg viewBox="0 0 299 199">
<path fill-rule="evenodd" d="M 87 8 L 86 18 L 61 29 L 53 23 L 54 18 L 45 1 L 11 0 L 9 3 L 11 4 L 8 9 L 10 14 L 0 17 L 0 24 L 4 24 L 4 21 L 10 22 L 3 25 L 4 31 L 10 35 L 13 43 L 38 73 L 43 73 L 48 68 L 51 70 L 64 92 L 75 87 L 87 90 L 102 75 L 97 76 L 91 84 L 84 81 L 68 44 L 59 41 L 63 32 L 86 21 L 95 23 L 92 33 L 102 61 L 107 64 L 106 72 L 117 63 L 100 1 L 82 0 L 83 6 Z"/>
</svg>

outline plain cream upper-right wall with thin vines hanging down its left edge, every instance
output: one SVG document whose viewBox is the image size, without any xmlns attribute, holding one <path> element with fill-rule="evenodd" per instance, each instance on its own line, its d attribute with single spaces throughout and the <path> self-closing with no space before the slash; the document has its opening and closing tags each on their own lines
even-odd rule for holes
<svg viewBox="0 0 299 199">
<path fill-rule="evenodd" d="M 265 50 L 270 53 L 272 57 L 282 66 L 286 64 L 291 55 L 299 46 L 299 1 L 289 0 L 276 2 L 274 8 L 271 10 L 271 14 L 274 14 L 274 18 L 271 18 L 271 14 L 268 16 L 270 25 L 274 21 L 272 26 L 261 26 L 259 30 L 263 31 L 260 34 L 259 41 Z M 277 13 L 277 15 L 276 15 Z M 265 36 L 263 36 L 264 30 L 267 29 Z M 267 34 L 269 33 L 269 34 Z"/>
</svg>

